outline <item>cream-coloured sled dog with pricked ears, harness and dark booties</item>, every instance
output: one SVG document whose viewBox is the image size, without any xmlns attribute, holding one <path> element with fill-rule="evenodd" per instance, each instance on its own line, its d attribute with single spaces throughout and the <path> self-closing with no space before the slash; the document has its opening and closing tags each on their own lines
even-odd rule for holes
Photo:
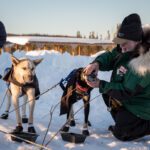
<svg viewBox="0 0 150 150">
<path fill-rule="evenodd" d="M 35 106 L 35 99 L 38 99 L 39 87 L 38 80 L 35 75 L 35 67 L 43 59 L 17 59 L 11 56 L 12 68 L 6 81 L 10 82 L 10 90 L 12 94 L 12 102 L 16 112 L 17 126 L 14 132 L 22 132 L 22 119 L 19 109 L 19 96 L 26 95 L 29 102 L 29 119 L 28 119 L 28 132 L 36 133 L 33 126 L 33 113 Z"/>
</svg>

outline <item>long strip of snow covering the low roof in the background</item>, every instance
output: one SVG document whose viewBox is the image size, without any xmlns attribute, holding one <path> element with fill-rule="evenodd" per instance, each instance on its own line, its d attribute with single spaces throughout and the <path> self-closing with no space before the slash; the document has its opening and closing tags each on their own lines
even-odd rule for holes
<svg viewBox="0 0 150 150">
<path fill-rule="evenodd" d="M 60 43 L 112 43 L 111 40 L 69 38 L 69 37 L 42 37 L 42 36 L 8 36 L 7 41 L 24 45 L 28 42 L 60 42 Z"/>
</svg>

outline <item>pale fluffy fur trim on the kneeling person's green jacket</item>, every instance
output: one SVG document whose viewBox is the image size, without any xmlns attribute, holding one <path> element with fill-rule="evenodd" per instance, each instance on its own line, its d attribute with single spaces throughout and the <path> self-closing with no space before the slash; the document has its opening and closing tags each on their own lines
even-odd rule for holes
<svg viewBox="0 0 150 150">
<path fill-rule="evenodd" d="M 139 50 L 141 49 L 142 47 L 140 47 Z M 132 59 L 129 63 L 129 67 L 140 76 L 150 73 L 150 49 L 146 53 L 142 53 L 138 57 Z"/>
</svg>

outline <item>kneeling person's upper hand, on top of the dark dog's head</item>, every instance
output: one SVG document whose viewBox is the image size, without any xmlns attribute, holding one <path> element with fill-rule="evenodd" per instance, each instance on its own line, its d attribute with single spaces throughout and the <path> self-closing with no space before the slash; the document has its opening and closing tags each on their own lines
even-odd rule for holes
<svg viewBox="0 0 150 150">
<path fill-rule="evenodd" d="M 86 66 L 84 69 L 84 73 L 85 75 L 90 75 L 92 72 L 94 72 L 95 75 L 97 75 L 98 70 L 99 70 L 99 64 L 95 62 L 93 64 L 89 64 L 88 66 Z"/>
</svg>

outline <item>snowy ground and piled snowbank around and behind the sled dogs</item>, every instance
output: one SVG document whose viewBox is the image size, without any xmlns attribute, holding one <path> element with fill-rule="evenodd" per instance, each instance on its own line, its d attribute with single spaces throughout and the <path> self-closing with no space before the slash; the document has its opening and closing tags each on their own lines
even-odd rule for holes
<svg viewBox="0 0 150 150">
<path fill-rule="evenodd" d="M 65 78 L 70 71 L 75 68 L 85 67 L 91 61 L 94 60 L 93 57 L 88 56 L 71 56 L 68 53 L 60 54 L 56 51 L 31 51 L 23 52 L 16 51 L 14 55 L 17 58 L 29 57 L 31 59 L 44 58 L 41 64 L 36 68 L 37 77 L 39 79 L 40 90 L 44 92 L 53 85 L 57 84 L 62 78 Z M 11 66 L 10 54 L 2 53 L 0 55 L 0 74 L 3 74 L 3 71 L 6 67 Z M 99 72 L 99 78 L 104 80 L 109 80 L 111 72 Z M 6 91 L 6 85 L 4 81 L 0 80 L 0 105 L 3 100 Z M 55 106 L 61 98 L 62 90 L 59 86 L 52 89 L 48 93 L 40 97 L 36 101 L 35 112 L 34 112 L 34 126 L 39 134 L 37 138 L 37 143 L 41 144 L 49 123 L 49 112 L 51 107 Z M 132 142 L 121 142 L 117 140 L 113 135 L 107 130 L 109 125 L 114 124 L 109 112 L 104 105 L 103 99 L 99 94 L 98 89 L 94 89 L 91 93 L 91 99 L 99 95 L 91 102 L 91 110 L 89 120 L 92 123 L 92 126 L 89 128 L 90 136 L 86 138 L 83 144 L 73 144 L 68 143 L 62 140 L 60 134 L 58 134 L 50 144 L 48 148 L 52 150 L 91 150 L 91 149 L 101 149 L 101 150 L 135 150 L 142 149 L 148 150 L 150 146 L 150 138 L 144 137 L 142 139 L 132 141 Z M 5 110 L 5 103 L 0 108 L 0 114 Z M 22 99 L 20 99 L 20 104 Z M 74 111 L 76 112 L 81 106 L 83 106 L 82 101 L 79 101 L 74 105 Z M 28 108 L 28 105 L 27 105 Z M 11 107 L 13 110 L 13 106 Z M 28 113 L 27 113 L 28 114 Z M 81 133 L 83 125 L 83 109 L 77 113 L 75 116 L 77 126 L 72 127 L 70 132 Z M 59 116 L 59 106 L 56 107 L 53 113 L 53 119 L 46 137 L 45 143 L 60 129 L 60 127 L 65 123 L 66 117 Z M 12 112 L 9 115 L 8 120 L 0 119 L 0 130 L 10 132 L 16 126 L 15 113 Z M 27 124 L 24 124 L 24 131 L 27 130 Z M 11 141 L 10 135 L 6 135 L 0 132 L 0 149 L 2 150 L 38 150 L 39 148 L 32 146 L 26 143 L 17 143 Z"/>
</svg>

